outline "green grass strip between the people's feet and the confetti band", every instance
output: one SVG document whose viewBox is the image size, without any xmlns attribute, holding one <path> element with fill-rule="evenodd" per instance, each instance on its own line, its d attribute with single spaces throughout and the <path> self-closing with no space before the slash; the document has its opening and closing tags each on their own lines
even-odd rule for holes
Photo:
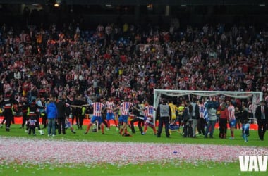
<svg viewBox="0 0 268 176">
<path fill-rule="evenodd" d="M 47 130 L 44 130 L 45 135 L 39 136 L 29 136 L 24 132 L 23 129 L 19 129 L 20 125 L 11 125 L 11 132 L 6 132 L 0 129 L 0 136 L 10 136 L 10 137 L 28 137 L 37 139 L 47 139 Z M 248 137 L 249 142 L 244 143 L 241 137 L 241 130 L 235 131 L 235 139 L 219 139 L 219 130 L 215 129 L 213 139 L 204 139 L 203 136 L 193 138 L 184 138 L 180 133 L 173 131 L 171 138 L 166 138 L 164 132 L 162 132 L 162 137 L 157 138 L 153 135 L 152 130 L 149 128 L 146 135 L 140 135 L 138 127 L 135 128 L 136 134 L 133 137 L 121 137 L 115 130 L 115 127 L 111 127 L 111 130 L 106 131 L 102 135 L 101 132 L 89 132 L 84 134 L 86 127 L 83 130 L 75 130 L 76 134 L 72 134 L 68 129 L 66 130 L 66 135 L 56 135 L 54 139 L 65 139 L 65 140 L 78 140 L 78 141 L 99 141 L 99 142 L 157 142 L 157 143 L 181 143 L 181 144 L 219 144 L 219 145 L 240 145 L 240 146 L 268 146 L 267 141 L 260 141 L 257 135 L 257 130 L 250 130 L 250 137 Z M 230 136 L 230 131 L 227 132 L 227 138 Z"/>
</svg>

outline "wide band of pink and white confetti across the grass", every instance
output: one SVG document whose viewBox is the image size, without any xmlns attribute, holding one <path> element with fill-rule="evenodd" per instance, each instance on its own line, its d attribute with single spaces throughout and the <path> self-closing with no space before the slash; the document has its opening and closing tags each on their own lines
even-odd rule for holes
<svg viewBox="0 0 268 176">
<path fill-rule="evenodd" d="M 207 144 L 156 144 L 134 142 L 74 142 L 46 139 L 0 137 L 0 163 L 23 165 L 126 165 L 148 161 L 230 163 L 238 161 L 240 151 L 263 149 L 255 146 Z"/>
</svg>

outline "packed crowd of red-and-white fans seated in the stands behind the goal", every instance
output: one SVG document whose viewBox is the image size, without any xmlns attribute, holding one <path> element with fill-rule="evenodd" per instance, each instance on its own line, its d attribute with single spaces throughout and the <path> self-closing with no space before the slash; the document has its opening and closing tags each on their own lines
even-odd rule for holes
<svg viewBox="0 0 268 176">
<path fill-rule="evenodd" d="M 268 101 L 265 28 L 224 24 L 1 25 L 0 94 L 100 95 L 152 100 L 154 89 L 262 91 Z"/>
</svg>

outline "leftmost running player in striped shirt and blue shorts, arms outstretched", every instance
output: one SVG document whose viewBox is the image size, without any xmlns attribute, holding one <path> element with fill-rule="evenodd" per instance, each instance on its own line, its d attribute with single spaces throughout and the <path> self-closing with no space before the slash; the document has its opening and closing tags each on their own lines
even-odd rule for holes
<svg viewBox="0 0 268 176">
<path fill-rule="evenodd" d="M 91 103 L 90 105 L 85 105 L 85 106 L 93 106 L 93 116 L 90 120 L 90 124 L 87 126 L 87 130 L 85 131 L 85 134 L 87 134 L 90 131 L 90 127 L 96 120 L 100 124 L 100 127 L 102 129 L 102 134 L 104 134 L 104 124 L 102 122 L 102 111 L 104 111 L 106 108 L 105 108 L 104 103 L 101 103 L 101 98 L 97 97 L 95 103 Z"/>
</svg>

